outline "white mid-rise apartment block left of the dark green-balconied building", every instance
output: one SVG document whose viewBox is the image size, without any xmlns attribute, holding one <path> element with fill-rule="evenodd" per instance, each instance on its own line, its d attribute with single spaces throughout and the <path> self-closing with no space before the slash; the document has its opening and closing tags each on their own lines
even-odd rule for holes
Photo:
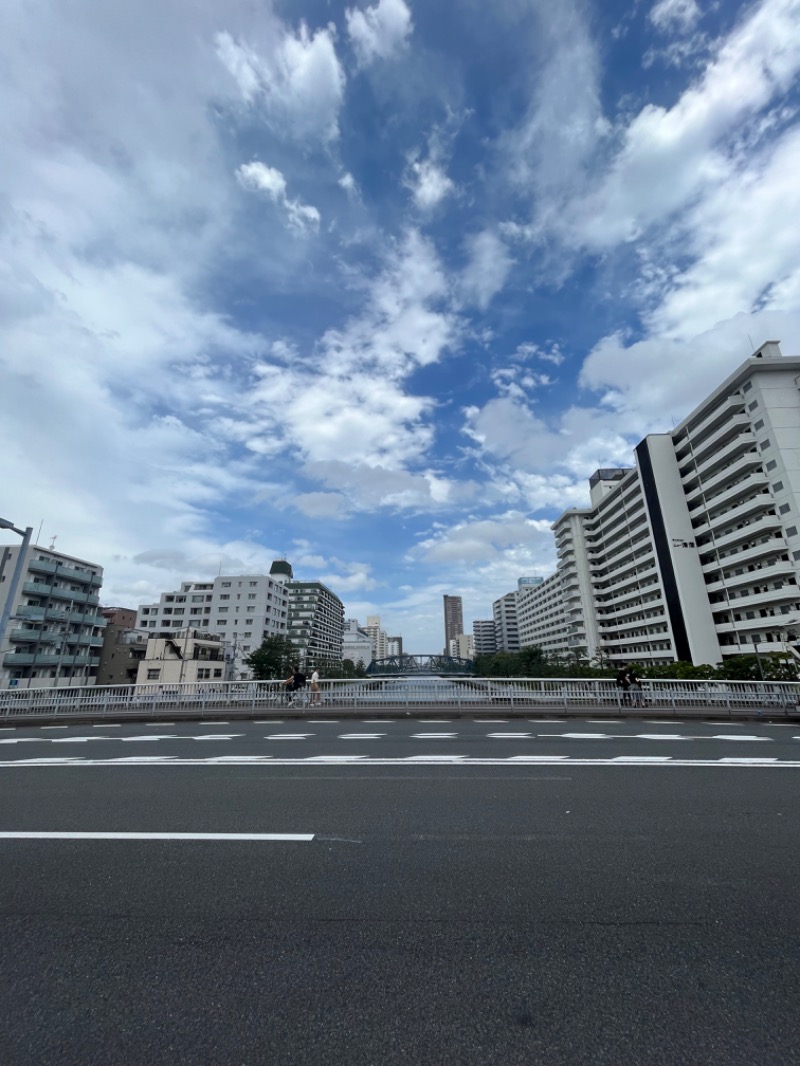
<svg viewBox="0 0 800 1066">
<path fill-rule="evenodd" d="M 148 636 L 172 636 L 194 628 L 224 639 L 230 646 L 234 676 L 247 680 L 243 660 L 267 636 L 287 634 L 289 594 L 286 585 L 263 574 L 229 575 L 213 581 L 183 581 L 162 593 L 158 603 L 142 604 L 135 628 Z"/>
</svg>

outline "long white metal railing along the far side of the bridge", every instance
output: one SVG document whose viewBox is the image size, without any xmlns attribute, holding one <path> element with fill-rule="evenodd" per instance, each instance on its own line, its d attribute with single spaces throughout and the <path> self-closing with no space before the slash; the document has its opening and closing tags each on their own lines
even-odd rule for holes
<svg viewBox="0 0 800 1066">
<path fill-rule="evenodd" d="M 800 715 L 800 682 L 643 681 L 623 693 L 613 680 L 562 678 L 367 678 L 320 682 L 320 701 L 305 689 L 291 704 L 279 681 L 199 681 L 187 684 L 87 685 L 80 689 L 0 691 L 0 720 L 202 718 L 224 713 L 324 714 L 419 711 L 436 708 L 499 714 L 558 709 L 612 714 L 658 713 Z"/>
</svg>

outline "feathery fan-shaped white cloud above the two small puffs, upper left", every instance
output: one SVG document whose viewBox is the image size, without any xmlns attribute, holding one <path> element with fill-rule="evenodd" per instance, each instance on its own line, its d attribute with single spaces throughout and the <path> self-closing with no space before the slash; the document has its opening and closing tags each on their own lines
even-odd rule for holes
<svg viewBox="0 0 800 1066">
<path fill-rule="evenodd" d="M 263 51 L 223 31 L 217 53 L 235 79 L 246 103 L 262 110 L 282 135 L 306 141 L 334 141 L 345 96 L 345 71 L 336 55 L 333 26 L 309 34 L 282 29 Z"/>
</svg>

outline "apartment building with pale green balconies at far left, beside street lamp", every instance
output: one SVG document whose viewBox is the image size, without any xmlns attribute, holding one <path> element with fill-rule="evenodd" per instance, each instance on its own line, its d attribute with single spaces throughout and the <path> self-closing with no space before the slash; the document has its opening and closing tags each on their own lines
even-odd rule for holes
<svg viewBox="0 0 800 1066">
<path fill-rule="evenodd" d="M 17 562 L 16 591 L 9 603 Z M 100 614 L 102 567 L 48 548 L 0 546 L 0 688 L 94 684 L 106 619 Z"/>
</svg>

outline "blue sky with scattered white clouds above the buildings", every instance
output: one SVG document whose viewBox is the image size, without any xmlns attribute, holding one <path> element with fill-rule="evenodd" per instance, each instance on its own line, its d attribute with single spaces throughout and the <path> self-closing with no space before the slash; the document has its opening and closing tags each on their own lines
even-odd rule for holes
<svg viewBox="0 0 800 1066">
<path fill-rule="evenodd" d="M 800 0 L 3 0 L 0 515 L 441 651 L 800 353 L 799 106 Z"/>
</svg>

